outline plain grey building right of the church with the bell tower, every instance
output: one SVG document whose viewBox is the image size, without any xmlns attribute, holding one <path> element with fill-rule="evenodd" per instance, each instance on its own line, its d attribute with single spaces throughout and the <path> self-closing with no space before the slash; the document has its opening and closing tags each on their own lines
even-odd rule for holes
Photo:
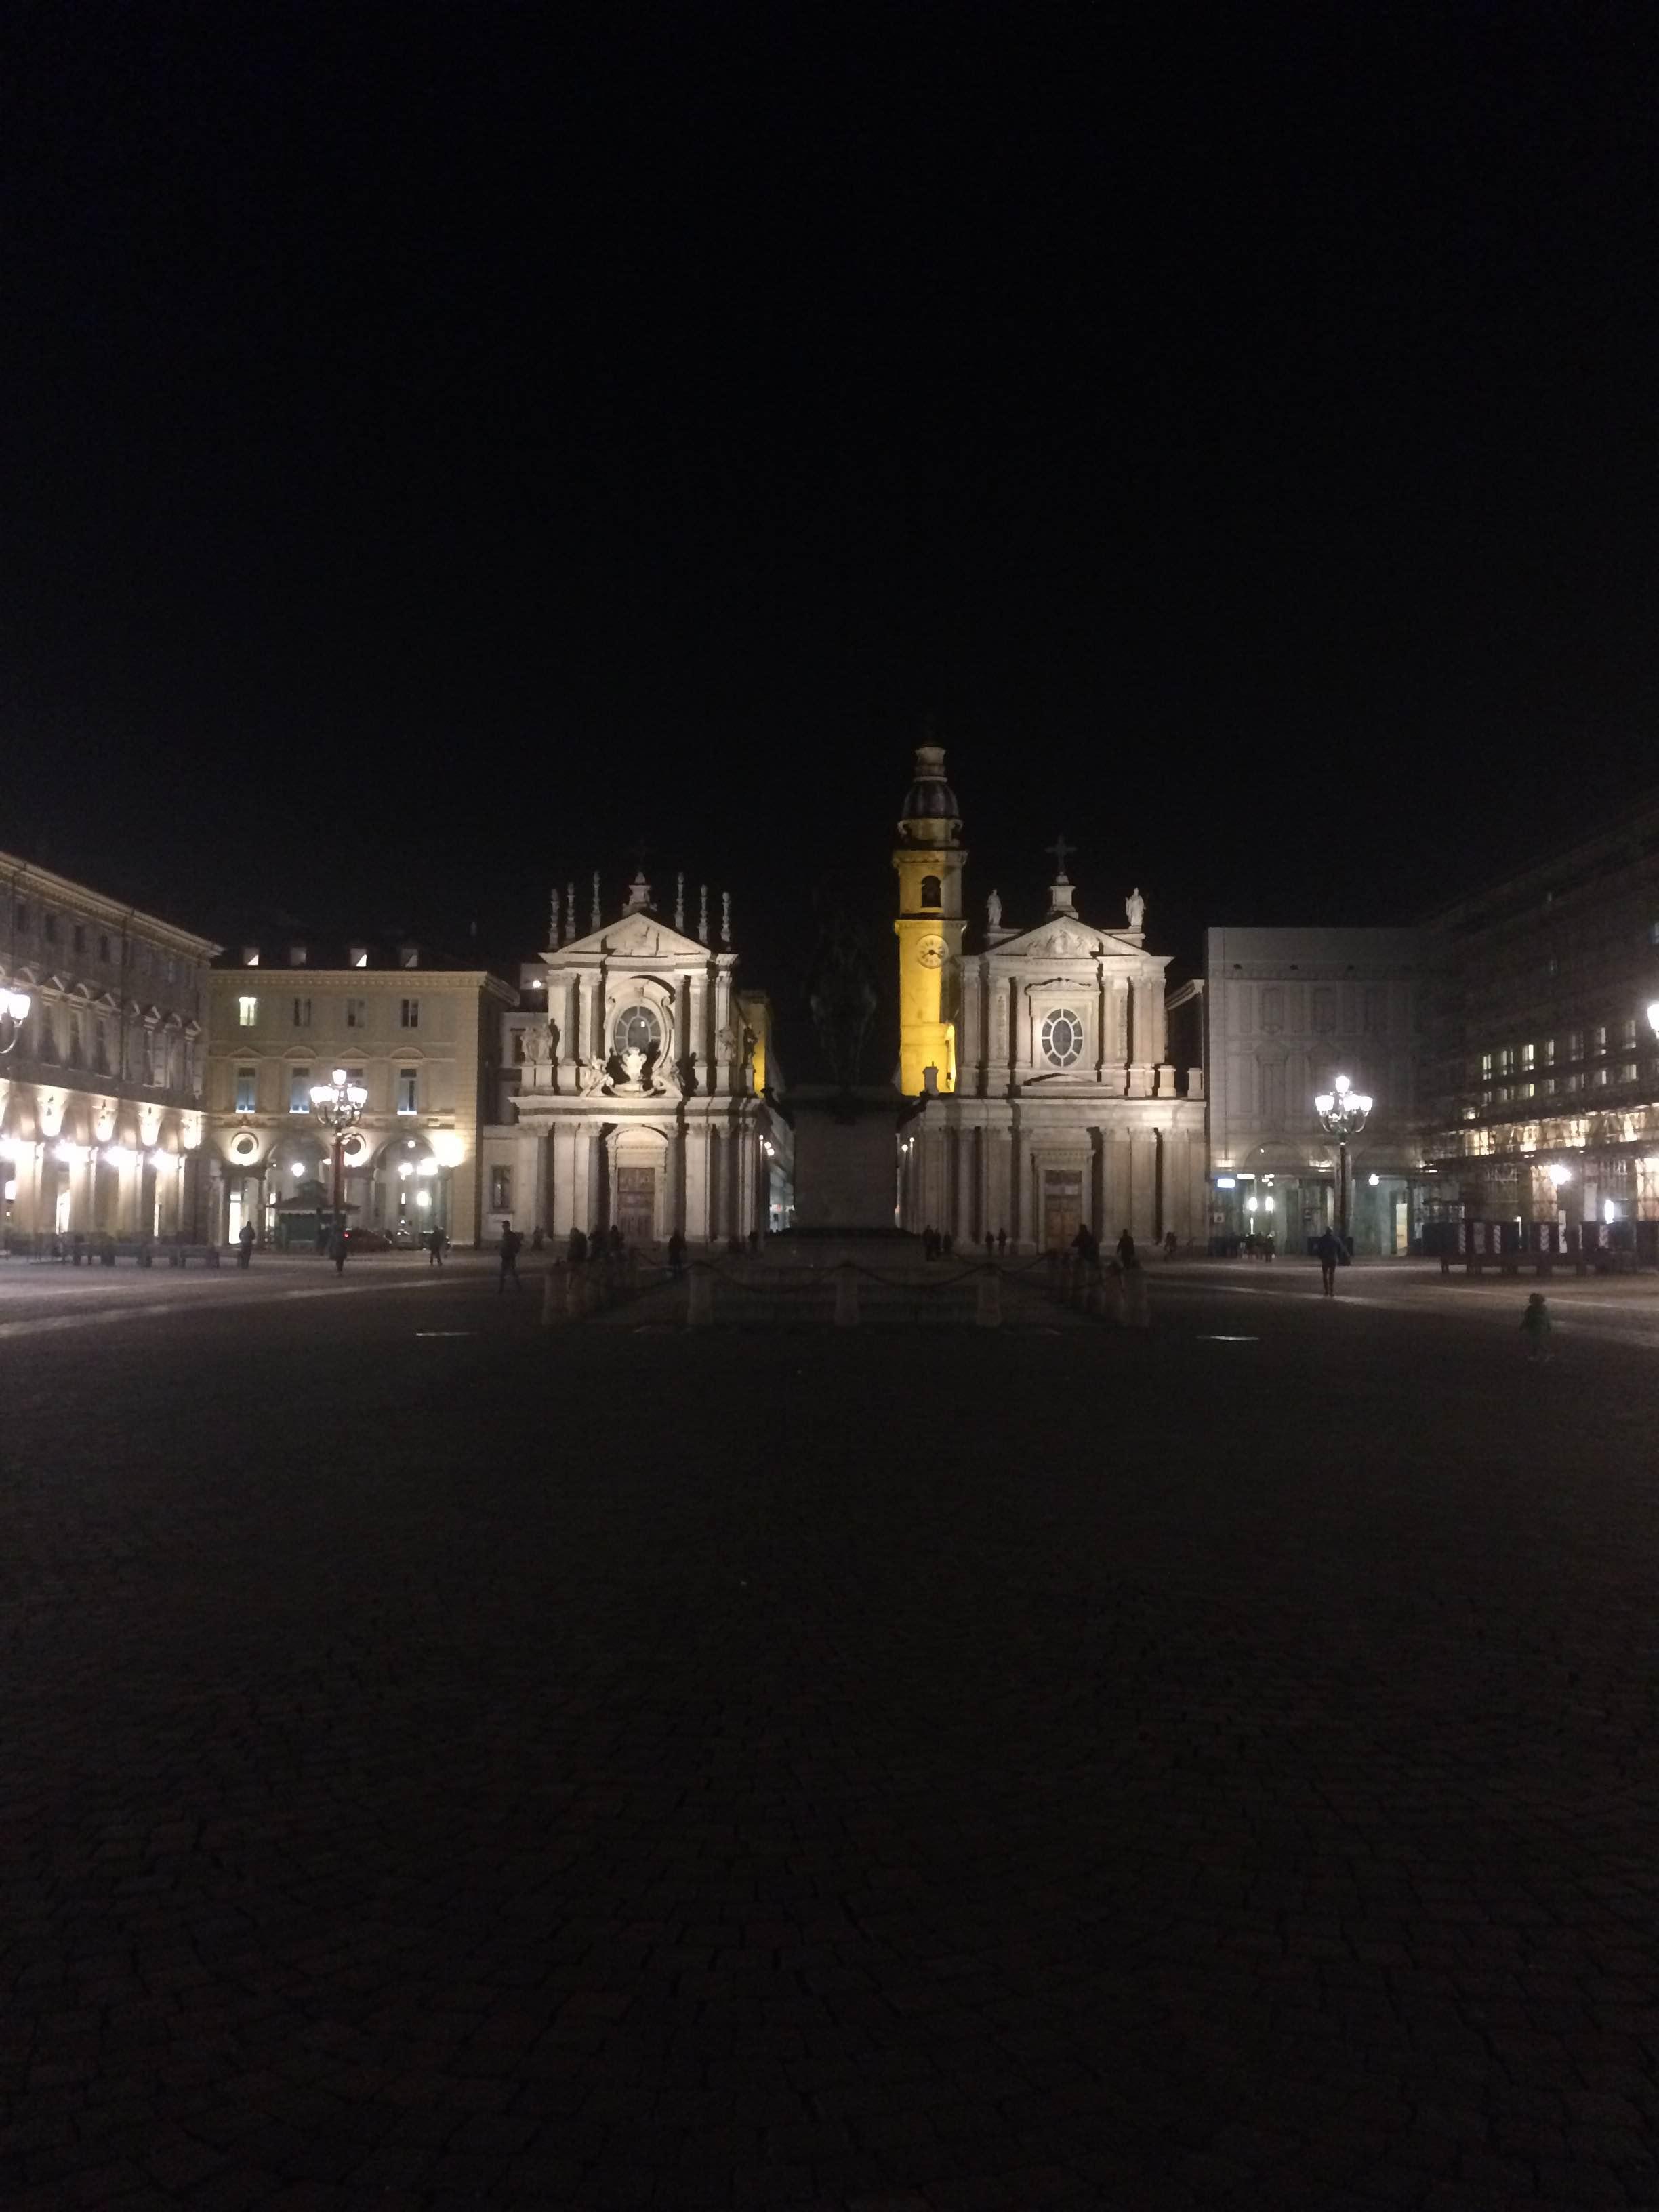
<svg viewBox="0 0 1659 2212">
<path fill-rule="evenodd" d="M 1436 1197 L 1418 1088 L 1429 967 L 1418 929 L 1206 931 L 1203 980 L 1172 993 L 1170 1020 L 1208 1079 L 1212 1243 L 1301 1252 L 1336 1223 L 1338 1148 L 1314 1097 L 1347 1075 L 1374 1099 L 1347 1148 L 1354 1250 L 1420 1250 Z"/>
</svg>

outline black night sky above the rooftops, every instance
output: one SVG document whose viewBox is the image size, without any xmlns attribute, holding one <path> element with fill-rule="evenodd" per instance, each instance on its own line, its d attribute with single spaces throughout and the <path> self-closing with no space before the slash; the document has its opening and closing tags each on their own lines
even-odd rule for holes
<svg viewBox="0 0 1659 2212">
<path fill-rule="evenodd" d="M 646 838 L 1394 920 L 1650 783 L 1652 9 L 7 18 L 0 841 L 515 953 Z"/>
</svg>

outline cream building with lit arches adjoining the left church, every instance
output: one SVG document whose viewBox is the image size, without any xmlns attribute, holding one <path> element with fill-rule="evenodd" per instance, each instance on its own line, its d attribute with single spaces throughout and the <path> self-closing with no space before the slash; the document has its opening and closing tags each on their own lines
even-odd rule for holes
<svg viewBox="0 0 1659 2212">
<path fill-rule="evenodd" d="M 312 1084 L 345 1068 L 367 1093 L 345 1139 L 345 1217 L 398 1241 L 442 1228 L 476 1243 L 480 1126 L 500 1013 L 518 1002 L 484 969 L 418 945 L 241 945 L 212 969 L 208 1057 L 210 1234 L 246 1221 L 265 1243 L 314 1243 L 332 1219 L 332 1139 Z"/>
</svg>

